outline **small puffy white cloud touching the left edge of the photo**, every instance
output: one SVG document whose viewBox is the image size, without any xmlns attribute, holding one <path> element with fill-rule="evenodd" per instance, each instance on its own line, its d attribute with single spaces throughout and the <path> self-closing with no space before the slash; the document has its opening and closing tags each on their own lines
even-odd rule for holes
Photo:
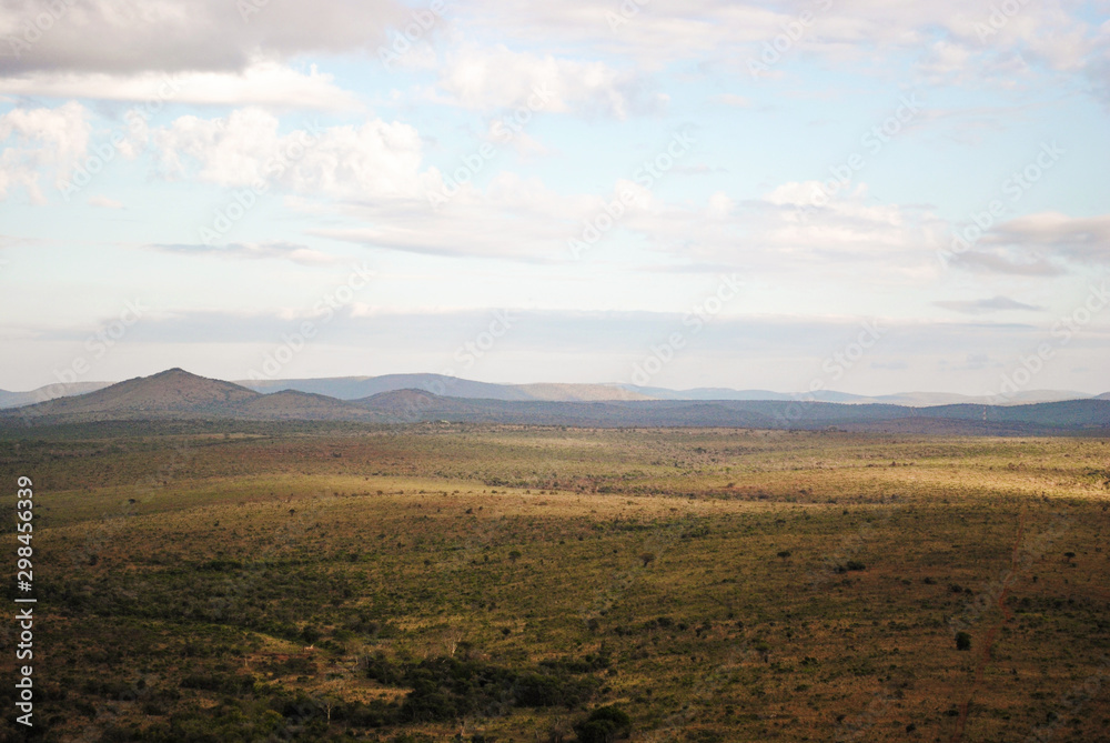
<svg viewBox="0 0 1110 743">
<path fill-rule="evenodd" d="M 88 111 L 74 101 L 0 116 L 0 201 L 22 185 L 33 203 L 46 203 L 39 178 L 52 173 L 54 184 L 64 181 L 84 157 L 91 129 Z"/>
</svg>

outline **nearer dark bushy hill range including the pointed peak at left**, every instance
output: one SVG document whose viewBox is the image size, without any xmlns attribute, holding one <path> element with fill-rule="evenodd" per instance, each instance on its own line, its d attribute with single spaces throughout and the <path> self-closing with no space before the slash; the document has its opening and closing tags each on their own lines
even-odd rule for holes
<svg viewBox="0 0 1110 743">
<path fill-rule="evenodd" d="M 349 380 L 347 389 L 357 390 L 360 384 L 373 382 L 374 379 L 381 378 Z M 438 381 L 443 383 L 443 379 L 447 378 L 440 378 Z M 542 392 L 567 393 L 565 390 Z M 484 422 L 609 428 L 836 428 L 905 433 L 1061 434 L 1110 432 L 1110 400 L 1070 400 L 1006 406 L 960 403 L 920 408 L 874 402 L 845 404 L 781 399 L 503 400 L 451 396 L 422 389 L 387 390 L 363 398 L 340 400 L 301 390 L 262 393 L 243 384 L 171 369 L 84 394 L 6 411 L 0 415 L 0 426 L 144 420 L 345 421 L 383 424 Z"/>
</svg>

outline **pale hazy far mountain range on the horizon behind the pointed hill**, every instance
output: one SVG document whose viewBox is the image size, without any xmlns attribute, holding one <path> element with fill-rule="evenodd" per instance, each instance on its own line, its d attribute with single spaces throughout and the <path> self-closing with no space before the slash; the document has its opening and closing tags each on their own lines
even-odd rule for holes
<svg viewBox="0 0 1110 743">
<path fill-rule="evenodd" d="M 635 384 L 491 384 L 473 382 L 443 374 L 385 374 L 383 376 L 332 376 L 323 379 L 291 380 L 239 380 L 240 386 L 255 392 L 273 393 L 285 390 L 322 394 L 336 400 L 362 400 L 382 392 L 400 390 L 423 390 L 438 396 L 466 398 L 474 400 L 547 401 L 547 402 L 597 402 L 613 400 L 780 400 L 790 401 L 801 395 L 769 390 L 733 390 L 729 388 L 695 388 L 693 390 L 668 390 L 657 386 Z M 8 392 L 0 390 L 0 409 L 19 408 L 46 402 L 63 396 L 84 394 L 107 386 L 112 382 L 78 382 L 74 384 L 52 384 L 30 392 Z M 904 392 L 886 395 L 859 395 L 848 392 L 821 390 L 805 395 L 818 402 L 842 402 L 851 404 L 884 403 L 924 408 L 948 404 L 991 404 L 987 396 L 972 396 L 947 392 Z M 1036 402 L 1059 402 L 1062 400 L 1110 399 L 1110 392 L 1092 398 L 1084 392 L 1060 390 L 1022 391 L 1001 404 L 1029 404 Z"/>
</svg>

